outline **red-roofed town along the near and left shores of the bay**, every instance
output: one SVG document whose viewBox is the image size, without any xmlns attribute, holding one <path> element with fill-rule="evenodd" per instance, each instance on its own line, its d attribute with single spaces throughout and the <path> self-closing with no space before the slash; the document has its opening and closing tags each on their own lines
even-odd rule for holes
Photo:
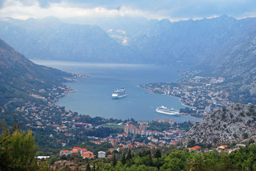
<svg viewBox="0 0 256 171">
<path fill-rule="evenodd" d="M 74 78 L 67 78 L 74 81 Z M 92 118 L 66 110 L 54 103 L 67 93 L 76 92 L 67 85 L 56 85 L 47 89 L 34 90 L 29 94 L 40 103 L 13 100 L 15 113 L 19 115 L 19 126 L 32 130 L 40 150 L 43 153 L 56 154 L 58 149 L 64 150 L 72 145 L 82 145 L 84 149 L 95 152 L 100 145 L 109 149 L 127 149 L 131 147 L 156 148 L 177 144 L 195 122 L 177 123 L 171 119 L 155 119 L 154 121 L 122 121 L 120 119 Z M 1 108 L 2 113 L 10 113 L 10 108 Z M 10 117 L 11 115 L 5 115 Z M 104 130 L 104 131 L 102 131 Z M 49 150 L 51 147 L 51 150 Z M 92 158 L 90 154 L 88 158 Z"/>
</svg>

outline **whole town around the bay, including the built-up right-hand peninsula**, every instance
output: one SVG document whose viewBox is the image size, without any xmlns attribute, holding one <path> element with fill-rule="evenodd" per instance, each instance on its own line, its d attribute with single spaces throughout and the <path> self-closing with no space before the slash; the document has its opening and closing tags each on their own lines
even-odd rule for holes
<svg viewBox="0 0 256 171">
<path fill-rule="evenodd" d="M 67 80 L 72 81 L 72 78 Z M 228 94 L 211 87 L 212 84 L 223 82 L 223 78 L 185 77 L 183 80 L 189 84 L 156 83 L 141 85 L 141 87 L 148 89 L 150 93 L 179 97 L 184 105 L 192 107 L 198 113 L 205 114 L 227 105 Z M 140 147 L 157 149 L 177 146 L 186 131 L 196 124 L 195 121 L 177 123 L 172 119 L 123 121 L 102 117 L 92 118 L 54 105 L 59 98 L 75 91 L 67 85 L 59 85 L 38 89 L 30 94 L 42 103 L 30 101 L 8 103 L 13 105 L 15 112 L 20 114 L 20 127 L 33 131 L 42 154 L 80 154 L 82 158 L 105 158 L 106 151 L 109 150 L 124 151 Z M 220 98 L 225 103 L 219 103 Z M 1 112 L 10 112 L 6 109 L 1 108 Z M 196 144 L 194 146 L 200 147 Z M 111 154 L 108 153 L 108 155 Z"/>
</svg>

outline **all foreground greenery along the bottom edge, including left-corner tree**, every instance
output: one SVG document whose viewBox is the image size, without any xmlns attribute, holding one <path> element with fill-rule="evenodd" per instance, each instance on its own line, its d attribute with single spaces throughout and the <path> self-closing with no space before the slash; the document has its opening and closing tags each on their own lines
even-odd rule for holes
<svg viewBox="0 0 256 171">
<path fill-rule="evenodd" d="M 194 152 L 188 149 L 129 149 L 113 151 L 111 159 L 83 160 L 80 156 L 51 157 L 49 162 L 35 159 L 37 147 L 31 131 L 5 128 L 0 135 L 1 170 L 50 170 L 58 160 L 86 170 L 255 170 L 256 144 L 237 151 Z M 252 141 L 251 141 L 252 142 Z M 107 144 L 106 144 L 107 145 Z M 105 147 L 99 149 L 102 150 Z M 108 152 L 109 154 L 109 152 Z M 69 161 L 68 161 L 69 160 Z M 48 164 L 49 163 L 49 164 Z M 59 168 L 60 169 L 60 168 Z M 70 170 L 67 166 L 63 170 Z"/>
</svg>

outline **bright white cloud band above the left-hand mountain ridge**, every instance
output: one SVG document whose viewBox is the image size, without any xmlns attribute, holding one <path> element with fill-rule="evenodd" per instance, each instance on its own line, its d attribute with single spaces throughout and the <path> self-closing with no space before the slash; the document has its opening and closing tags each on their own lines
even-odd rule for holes
<svg viewBox="0 0 256 171">
<path fill-rule="evenodd" d="M 83 7 L 81 7 L 83 6 Z M 60 19 L 70 17 L 115 17 L 115 16 L 138 16 L 148 19 L 163 19 L 155 13 L 148 11 L 134 10 L 127 6 L 122 6 L 118 9 L 111 9 L 97 6 L 86 8 L 84 4 L 72 3 L 50 3 L 47 8 L 42 8 L 38 1 L 29 0 L 28 3 L 20 3 L 20 1 L 8 0 L 4 3 L 4 7 L 0 9 L 1 17 L 12 17 L 15 19 L 41 19 L 47 16 L 54 16 Z"/>
</svg>

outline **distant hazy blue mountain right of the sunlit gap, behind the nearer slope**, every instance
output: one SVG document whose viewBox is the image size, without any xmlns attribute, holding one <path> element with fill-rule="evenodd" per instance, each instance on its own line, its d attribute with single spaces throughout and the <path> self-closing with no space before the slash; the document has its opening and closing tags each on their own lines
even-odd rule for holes
<svg viewBox="0 0 256 171">
<path fill-rule="evenodd" d="M 250 41 L 246 38 L 256 33 L 255 25 L 255 18 L 237 20 L 227 15 L 179 22 L 163 19 L 130 44 L 151 62 L 214 68 L 234 47 Z"/>
</svg>

